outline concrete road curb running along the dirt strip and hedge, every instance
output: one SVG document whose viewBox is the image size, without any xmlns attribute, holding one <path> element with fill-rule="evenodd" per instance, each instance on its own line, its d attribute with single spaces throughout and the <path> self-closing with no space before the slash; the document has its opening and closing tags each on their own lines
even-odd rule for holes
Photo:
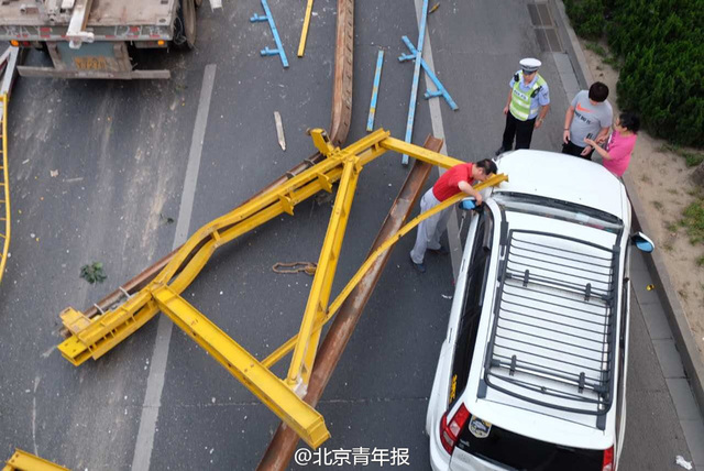
<svg viewBox="0 0 704 471">
<path fill-rule="evenodd" d="M 588 84 L 592 84 L 594 79 L 586 64 L 584 52 L 576 39 L 576 34 L 568 20 L 564 3 L 562 0 L 549 0 L 549 3 L 552 15 L 558 23 L 560 39 L 562 40 L 565 52 L 572 62 L 572 67 L 574 67 L 578 81 L 583 89 L 586 89 L 588 88 Z M 648 221 L 645 218 L 638 218 L 638 215 L 645 213 L 645 211 L 642 202 L 635 190 L 635 185 L 630 175 L 624 175 L 624 184 L 632 206 L 634 226 L 645 233 L 652 233 Z M 670 280 L 670 275 L 668 274 L 668 270 L 660 256 L 660 253 L 656 250 L 651 254 L 644 255 L 648 264 L 648 269 L 650 270 L 650 274 L 657 284 L 658 296 L 660 297 L 662 307 L 668 316 L 668 322 L 672 329 L 675 346 L 682 358 L 682 364 L 684 365 L 684 371 L 690 380 L 690 385 L 694 392 L 700 413 L 704 416 L 704 364 L 702 363 L 694 336 L 692 335 L 689 322 L 686 321 L 684 310 L 678 299 L 678 294 L 672 281 Z"/>
</svg>

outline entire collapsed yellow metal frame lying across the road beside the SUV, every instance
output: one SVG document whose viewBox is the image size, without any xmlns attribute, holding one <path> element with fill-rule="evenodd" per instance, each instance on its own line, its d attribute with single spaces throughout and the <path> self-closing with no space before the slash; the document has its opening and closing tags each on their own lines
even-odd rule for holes
<svg viewBox="0 0 704 471">
<path fill-rule="evenodd" d="M 92 319 L 70 307 L 65 309 L 62 319 L 72 336 L 58 346 L 64 358 L 74 365 L 79 365 L 89 358 L 97 360 L 161 310 L 308 445 L 317 448 L 327 440 L 330 432 L 322 416 L 301 399 L 315 362 L 322 326 L 337 313 L 374 260 L 420 221 L 450 207 L 464 195 L 449 198 L 432 210 L 424 212 L 386 240 L 329 305 L 354 190 L 364 165 L 387 151 L 410 155 L 446 168 L 461 164 L 462 161 L 391 138 L 389 132 L 383 129 L 345 149 L 333 146 L 320 129 L 312 130 L 311 138 L 314 145 L 326 156 L 322 162 L 198 229 L 162 272 L 122 305 Z M 188 304 L 180 293 L 200 273 L 217 248 L 284 212 L 293 216 L 296 205 L 320 190 L 331 193 L 332 184 L 338 180 L 338 194 L 299 332 L 264 361 L 258 361 Z M 496 175 L 475 188 L 498 185 L 504 180 L 505 175 Z M 288 374 L 283 381 L 270 369 L 292 351 Z"/>
</svg>

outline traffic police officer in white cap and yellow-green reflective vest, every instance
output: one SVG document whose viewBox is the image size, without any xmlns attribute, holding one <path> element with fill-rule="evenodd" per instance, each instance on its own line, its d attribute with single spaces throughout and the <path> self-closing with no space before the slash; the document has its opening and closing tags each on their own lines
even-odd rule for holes
<svg viewBox="0 0 704 471">
<path fill-rule="evenodd" d="M 520 61 L 520 70 L 514 74 L 508 86 L 508 99 L 504 108 L 506 128 L 502 146 L 496 155 L 510 151 L 516 138 L 516 149 L 529 149 L 532 130 L 542 125 L 550 109 L 550 90 L 544 78 L 538 74 L 542 63 L 536 58 Z"/>
</svg>

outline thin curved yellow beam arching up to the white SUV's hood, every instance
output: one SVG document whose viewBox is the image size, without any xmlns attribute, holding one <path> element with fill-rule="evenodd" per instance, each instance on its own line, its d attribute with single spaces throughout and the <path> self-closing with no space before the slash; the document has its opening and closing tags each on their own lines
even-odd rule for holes
<svg viewBox="0 0 704 471">
<path fill-rule="evenodd" d="M 505 174 L 493 175 L 492 177 L 486 179 L 486 182 L 481 182 L 474 185 L 474 189 L 482 190 L 490 186 L 497 186 L 502 182 L 507 182 L 507 180 L 508 180 L 508 176 L 506 176 Z M 344 288 L 340 292 L 338 297 L 330 304 L 330 307 L 326 311 L 326 315 L 322 318 L 322 321 L 319 324 L 316 324 L 316 326 L 314 327 L 314 331 L 319 332 L 322 329 L 322 326 L 328 320 L 330 320 L 332 316 L 334 316 L 338 309 L 340 309 L 340 306 L 342 306 L 342 303 L 344 303 L 344 299 L 346 299 L 350 293 L 352 293 L 352 289 L 354 289 L 354 287 L 360 283 L 364 274 L 372 267 L 376 259 L 378 259 L 384 252 L 386 252 L 396 242 L 398 242 L 402 237 L 406 236 L 408 232 L 414 230 L 421 221 L 428 219 L 433 215 L 437 215 L 438 212 L 442 211 L 446 208 L 449 208 L 450 206 L 461 201 L 464 198 L 466 198 L 466 195 L 464 193 L 460 193 L 453 197 L 446 199 L 435 208 L 429 209 L 428 211 L 421 212 L 415 219 L 408 222 L 406 226 L 400 228 L 398 232 L 396 232 L 395 234 L 386 239 L 384 243 L 381 244 L 374 252 L 372 252 L 372 254 L 364 261 L 364 263 L 362 263 L 362 266 L 360 266 L 360 269 L 356 271 L 354 276 L 350 278 L 350 281 L 344 286 Z M 282 344 L 279 348 L 274 350 L 268 357 L 266 357 L 262 361 L 262 364 L 266 368 L 272 368 L 274 364 L 276 364 L 280 359 L 286 357 L 294 349 L 294 347 L 297 344 L 299 340 L 299 336 L 300 336 L 300 332 L 292 337 L 290 339 L 288 339 L 284 344 Z"/>
</svg>

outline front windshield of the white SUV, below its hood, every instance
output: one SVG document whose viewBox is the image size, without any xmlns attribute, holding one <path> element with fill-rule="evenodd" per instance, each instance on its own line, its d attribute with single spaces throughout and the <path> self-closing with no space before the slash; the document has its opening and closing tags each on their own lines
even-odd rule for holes
<svg viewBox="0 0 704 471">
<path fill-rule="evenodd" d="M 492 199 L 507 211 L 560 219 L 607 232 L 617 233 L 624 227 L 622 220 L 614 215 L 561 199 L 510 191 L 495 193 Z"/>
</svg>

